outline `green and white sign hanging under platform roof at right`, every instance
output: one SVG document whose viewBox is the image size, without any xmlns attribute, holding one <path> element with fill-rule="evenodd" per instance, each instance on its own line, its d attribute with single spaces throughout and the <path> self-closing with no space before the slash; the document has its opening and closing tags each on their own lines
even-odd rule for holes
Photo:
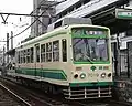
<svg viewBox="0 0 132 106">
<path fill-rule="evenodd" d="M 116 18 L 131 20 L 132 9 L 116 9 Z"/>
</svg>

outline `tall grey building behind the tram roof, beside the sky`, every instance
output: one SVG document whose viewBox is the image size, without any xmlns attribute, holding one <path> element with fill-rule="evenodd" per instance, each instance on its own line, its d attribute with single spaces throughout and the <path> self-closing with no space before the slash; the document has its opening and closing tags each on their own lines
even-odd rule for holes
<svg viewBox="0 0 132 106">
<path fill-rule="evenodd" d="M 31 36 L 38 36 L 43 33 L 46 33 L 47 25 L 51 24 L 55 20 L 55 7 L 51 7 L 54 4 L 54 1 L 47 0 L 33 0 L 33 12 L 34 15 L 42 17 L 33 17 L 31 22 L 35 23 L 31 26 Z M 38 18 L 38 20 L 37 20 Z"/>
</svg>

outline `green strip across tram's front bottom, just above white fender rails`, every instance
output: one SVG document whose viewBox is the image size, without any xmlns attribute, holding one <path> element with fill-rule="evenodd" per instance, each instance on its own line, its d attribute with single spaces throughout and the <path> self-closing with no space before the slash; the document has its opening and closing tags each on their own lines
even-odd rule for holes
<svg viewBox="0 0 132 106">
<path fill-rule="evenodd" d="M 107 85 L 113 85 L 113 82 L 97 82 L 97 83 L 70 83 L 70 87 L 77 87 L 77 86 L 107 86 Z"/>
</svg>

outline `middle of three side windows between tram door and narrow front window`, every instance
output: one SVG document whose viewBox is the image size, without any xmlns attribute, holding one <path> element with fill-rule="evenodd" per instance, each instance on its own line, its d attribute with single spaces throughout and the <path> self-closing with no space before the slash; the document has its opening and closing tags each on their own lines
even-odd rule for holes
<svg viewBox="0 0 132 106">
<path fill-rule="evenodd" d="M 46 43 L 46 62 L 52 62 L 52 42 Z"/>
</svg>

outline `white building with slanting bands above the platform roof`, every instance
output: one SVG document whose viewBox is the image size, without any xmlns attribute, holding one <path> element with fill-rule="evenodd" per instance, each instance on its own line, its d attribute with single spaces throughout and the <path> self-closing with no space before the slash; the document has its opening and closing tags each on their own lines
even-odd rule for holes
<svg viewBox="0 0 132 106">
<path fill-rule="evenodd" d="M 96 12 L 113 7 L 130 6 L 131 0 L 67 0 L 56 7 L 58 19 L 63 17 L 90 17 Z"/>
</svg>

